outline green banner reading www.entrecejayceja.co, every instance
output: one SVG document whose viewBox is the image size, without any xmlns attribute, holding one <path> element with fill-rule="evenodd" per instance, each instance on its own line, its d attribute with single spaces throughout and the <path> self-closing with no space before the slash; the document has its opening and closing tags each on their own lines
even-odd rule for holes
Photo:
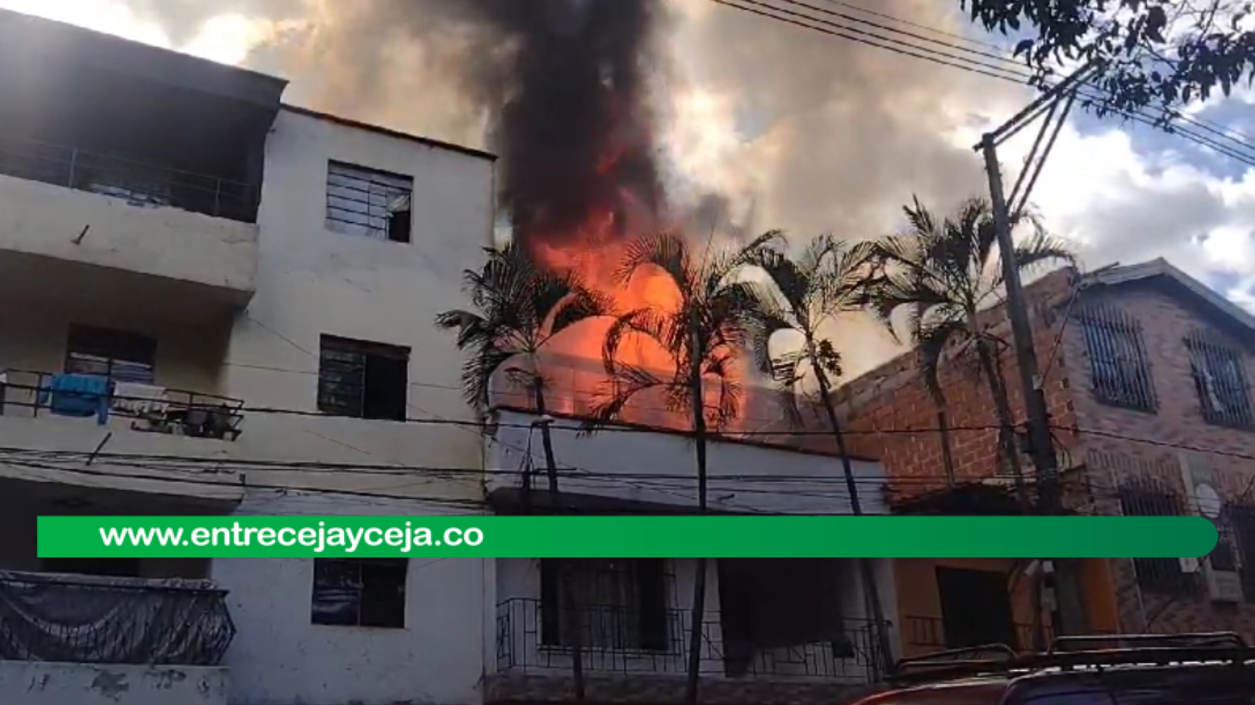
<svg viewBox="0 0 1255 705">
<path fill-rule="evenodd" d="M 1197 558 L 1202 517 L 39 517 L 40 558 Z"/>
</svg>

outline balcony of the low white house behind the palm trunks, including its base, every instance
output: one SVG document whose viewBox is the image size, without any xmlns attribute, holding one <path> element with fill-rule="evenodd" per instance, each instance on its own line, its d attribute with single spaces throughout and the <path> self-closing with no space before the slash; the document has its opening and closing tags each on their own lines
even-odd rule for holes
<svg viewBox="0 0 1255 705">
<path fill-rule="evenodd" d="M 635 613 L 617 607 L 576 611 L 587 696 L 601 702 L 661 702 L 683 695 L 688 672 L 686 610 L 668 610 L 665 635 L 639 646 Z M 550 644 L 541 601 L 513 598 L 497 607 L 497 672 L 488 701 L 558 701 L 571 697 L 572 650 Z M 831 701 L 876 681 L 871 622 L 846 620 L 845 639 L 777 649 L 742 649 L 724 641 L 718 613 L 702 623 L 704 702 Z M 884 660 L 878 660 L 884 662 Z M 629 677 L 625 677 L 629 676 Z"/>
</svg>

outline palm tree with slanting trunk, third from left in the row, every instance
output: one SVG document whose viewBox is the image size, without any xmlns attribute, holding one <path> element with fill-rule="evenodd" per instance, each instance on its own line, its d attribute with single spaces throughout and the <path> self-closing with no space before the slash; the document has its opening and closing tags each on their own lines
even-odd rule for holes
<svg viewBox="0 0 1255 705">
<path fill-rule="evenodd" d="M 862 516 L 846 438 L 832 401 L 833 383 L 841 376 L 841 356 L 831 340 L 821 334 L 821 327 L 841 314 L 861 310 L 861 292 L 870 281 L 873 248 L 870 243 L 847 245 L 825 235 L 812 240 L 797 258 L 791 258 L 783 245 L 783 233 L 773 231 L 759 238 L 759 246 L 749 256 L 749 262 L 766 272 L 772 284 L 771 289 L 752 290 L 756 304 L 750 311 L 757 320 L 749 326 L 749 347 L 763 373 L 784 371 L 777 381 L 782 384 L 783 408 L 794 423 L 799 421 L 797 384 L 807 373 L 814 375 L 821 405 L 841 457 L 851 512 Z M 789 355 L 773 358 L 768 345 L 782 331 L 793 334 L 801 347 Z M 871 561 L 860 558 L 858 570 L 871 607 L 872 637 L 878 651 L 876 664 L 884 666 L 887 664 L 880 660 L 889 656 L 889 635 L 885 633 L 880 587 Z"/>
</svg>

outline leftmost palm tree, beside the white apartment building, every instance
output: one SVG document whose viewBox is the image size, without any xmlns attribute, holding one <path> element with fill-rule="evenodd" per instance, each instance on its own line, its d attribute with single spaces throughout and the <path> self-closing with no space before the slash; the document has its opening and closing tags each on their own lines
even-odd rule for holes
<svg viewBox="0 0 1255 705">
<path fill-rule="evenodd" d="M 610 305 L 587 289 L 576 275 L 560 276 L 538 266 L 522 247 L 510 243 L 502 248 L 486 247 L 488 261 L 481 270 L 463 273 L 464 289 L 473 311 L 444 311 L 435 325 L 457 330 L 457 345 L 467 352 L 462 369 L 462 389 L 476 409 L 489 405 L 491 385 L 498 371 L 507 380 L 531 393 L 540 416 L 541 445 L 548 489 L 558 504 L 558 472 L 553 457 L 545 400 L 545 375 L 540 359 L 545 346 L 563 330 L 595 316 L 607 315 Z M 521 363 L 515 365 L 513 363 Z M 507 366 L 508 365 L 508 366 Z M 528 458 L 530 460 L 530 458 Z M 531 506 L 531 472 L 523 472 L 523 502 Z M 560 572 L 563 600 L 571 600 L 571 567 L 563 563 Z M 563 608 L 572 608 L 563 605 Z M 584 700 L 584 667 L 580 650 L 580 621 L 576 621 L 572 644 L 575 695 Z"/>
</svg>

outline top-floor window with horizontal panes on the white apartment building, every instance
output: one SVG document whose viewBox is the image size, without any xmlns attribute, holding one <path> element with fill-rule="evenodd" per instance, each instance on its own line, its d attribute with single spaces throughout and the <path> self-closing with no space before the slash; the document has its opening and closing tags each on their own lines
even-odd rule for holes
<svg viewBox="0 0 1255 705">
<path fill-rule="evenodd" d="M 326 227 L 393 242 L 409 242 L 414 179 L 340 162 L 326 169 Z"/>
</svg>

